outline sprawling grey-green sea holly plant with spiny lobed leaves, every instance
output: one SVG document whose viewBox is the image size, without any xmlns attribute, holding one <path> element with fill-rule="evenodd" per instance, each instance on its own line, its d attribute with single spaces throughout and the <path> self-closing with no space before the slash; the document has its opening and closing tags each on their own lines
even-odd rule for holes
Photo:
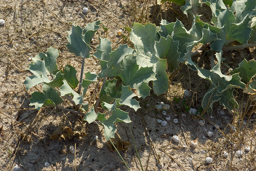
<svg viewBox="0 0 256 171">
<path fill-rule="evenodd" d="M 222 0 L 201 2 L 211 7 L 211 24 L 201 21 L 196 14 L 195 6 L 201 6 L 200 1 L 185 0 L 182 1 L 184 13 L 194 14 L 189 30 L 179 20 L 171 23 L 162 20 L 160 26 L 134 23 L 129 30 L 134 49 L 126 44 L 112 50 L 111 42 L 107 38 L 99 37 L 100 44 L 93 56 L 100 61 L 101 72 L 87 72 L 85 78 L 84 61 L 91 57 L 90 42 L 100 28 L 100 21 L 88 24 L 83 29 L 74 23 L 68 31 L 67 48 L 69 52 L 82 58 L 80 78 L 77 79 L 76 69 L 71 65 L 59 69 L 56 63 L 59 52 L 50 47 L 46 55 L 39 53 L 29 64 L 28 70 L 33 75 L 26 77 L 24 81 L 27 90 L 38 84 L 42 84 L 43 89 L 42 92 L 32 93 L 30 105 L 35 105 L 37 109 L 48 105 L 61 108 L 59 104 L 65 97 L 74 109 L 61 108 L 62 110 L 81 114 L 88 123 L 98 121 L 104 127 L 104 134 L 113 138 L 116 123 L 131 122 L 128 113 L 121 106 L 125 105 L 137 111 L 140 105 L 136 99 L 150 95 L 150 82 L 153 83 L 156 95 L 166 93 L 169 88 L 167 72 L 173 72 L 182 62 L 197 71 L 200 77 L 210 81 L 209 90 L 202 100 L 205 111 L 210 113 L 214 102 L 219 102 L 229 110 L 237 107 L 233 96 L 234 89 L 239 88 L 244 93 L 255 94 L 256 64 L 254 60 L 243 61 L 239 68 L 226 76 L 221 72 L 221 63 L 225 60 L 222 53 L 255 46 L 256 3 L 254 0 L 234 1 L 229 9 Z M 230 2 L 227 3 L 230 6 Z M 234 40 L 242 45 L 224 47 Z M 202 48 L 192 53 L 191 50 L 199 43 L 203 44 Z M 200 68 L 192 60 L 191 57 L 202 52 L 209 57 L 211 69 Z M 217 64 L 214 62 L 214 55 Z M 89 108 L 88 103 L 84 103 L 86 92 L 89 85 L 98 79 L 102 79 L 100 93 L 96 104 Z"/>
</svg>

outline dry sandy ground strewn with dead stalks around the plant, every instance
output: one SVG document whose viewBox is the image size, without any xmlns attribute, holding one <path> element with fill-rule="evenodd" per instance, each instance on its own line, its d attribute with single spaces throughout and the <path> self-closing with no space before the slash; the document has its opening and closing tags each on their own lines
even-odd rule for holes
<svg viewBox="0 0 256 171">
<path fill-rule="evenodd" d="M 130 0 L 128 2 L 130 9 L 133 7 L 138 10 L 137 14 L 141 14 L 143 3 L 136 1 L 138 6 L 135 7 Z M 173 10 L 162 6 L 159 15 L 160 6 L 148 2 L 147 12 L 140 19 L 138 15 L 134 18 L 130 14 L 127 1 L 1 1 L 0 19 L 5 20 L 5 26 L 0 27 L 0 170 L 10 171 L 16 165 L 19 171 L 128 170 L 117 152 L 109 151 L 102 127 L 88 124 L 82 121 L 82 116 L 73 113 L 52 107 L 38 111 L 29 106 L 31 94 L 37 91 L 36 89 L 41 90 L 41 86 L 26 91 L 23 82 L 31 73 L 25 69 L 30 62 L 29 57 L 54 47 L 60 51 L 58 64 L 71 64 L 76 67 L 79 76 L 81 58 L 69 53 L 65 46 L 65 36 L 68 35 L 66 31 L 70 30 L 74 21 L 80 27 L 85 27 L 89 22 L 101 20 L 101 25 L 109 29 L 106 32 L 101 27 L 96 32 L 95 40 L 91 43 L 91 52 L 95 51 L 99 44 L 98 36 L 108 37 L 114 49 L 119 44 L 127 43 L 116 35 L 116 31 L 123 29 L 123 26 L 132 27 L 131 24 L 136 22 L 136 19 L 159 25 L 161 16 L 169 22 L 175 22 L 178 18 L 189 29 L 191 18 L 187 18 L 179 10 L 179 6 L 170 5 Z M 83 7 L 88 7 L 87 14 L 82 12 Z M 199 14 L 204 15 L 201 19 L 205 22 L 211 19 L 209 11 L 206 5 L 198 10 Z M 123 34 L 127 35 L 127 32 Z M 255 59 L 255 54 L 255 48 L 247 48 L 226 52 L 224 57 L 225 62 L 235 68 L 244 58 Z M 201 56 L 193 60 L 204 68 L 210 67 L 209 60 Z M 222 70 L 227 72 L 228 68 L 223 67 Z M 87 59 L 85 72 L 88 71 L 100 72 L 96 58 Z M 92 84 L 87 91 L 85 100 L 91 105 L 96 100 L 99 83 Z M 149 171 L 160 170 L 160 163 L 163 164 L 164 170 L 176 171 L 255 170 L 256 113 L 250 118 L 248 115 L 244 116 L 245 125 L 240 119 L 244 115 L 247 96 L 237 91 L 237 100 L 241 104 L 238 114 L 223 108 L 225 114 L 221 115 L 216 110 L 218 104 L 215 104 L 213 113 L 205 114 L 203 126 L 198 124 L 199 118 L 193 117 L 182 106 L 183 90 L 190 89 L 194 96 L 188 99 L 188 104 L 198 109 L 207 86 L 209 82 L 201 80 L 195 71 L 183 66 L 173 78 L 168 96 L 157 97 L 152 91 L 151 96 L 138 99 L 142 108 L 137 113 L 129 107 L 123 107 L 123 110 L 129 112 L 132 123 L 118 123 L 117 133 L 122 141 L 132 144 L 127 151 L 120 151 L 130 170 L 141 170 L 134 146 L 137 147 L 143 169 Z M 175 103 L 172 97 L 181 97 L 181 101 Z M 165 127 L 157 123 L 157 119 L 165 119 L 165 116 L 154 108 L 161 101 L 171 106 L 167 110 L 167 116 L 170 116 L 171 120 Z M 71 108 L 71 104 L 65 101 L 61 107 Z M 175 118 L 178 123 L 173 122 Z M 66 140 L 50 139 L 49 135 L 62 121 L 76 134 Z M 214 127 L 215 124 L 219 125 L 219 129 Z M 236 127 L 235 131 L 231 129 L 232 125 Z M 211 130 L 213 136 L 204 134 L 204 129 Z M 180 137 L 179 143 L 172 140 L 173 135 Z M 95 136 L 99 138 L 94 139 Z M 197 147 L 190 145 L 192 140 L 197 141 Z M 76 145 L 76 155 L 69 151 L 70 145 Z M 251 147 L 250 152 L 245 150 L 246 146 Z M 243 154 L 237 156 L 237 150 L 241 150 Z M 229 155 L 223 156 L 223 151 L 227 151 Z M 213 158 L 212 164 L 205 162 L 208 156 Z M 49 163 L 48 167 L 45 167 L 45 162 Z"/>
</svg>

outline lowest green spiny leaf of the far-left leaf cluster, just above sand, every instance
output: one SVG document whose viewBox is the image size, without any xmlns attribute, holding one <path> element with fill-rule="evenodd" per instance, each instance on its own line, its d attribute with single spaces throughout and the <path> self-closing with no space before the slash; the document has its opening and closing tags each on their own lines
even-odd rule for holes
<svg viewBox="0 0 256 171">
<path fill-rule="evenodd" d="M 30 98 L 30 106 L 35 105 L 36 109 L 40 109 L 43 106 L 56 106 L 63 102 L 62 98 L 59 94 L 50 86 L 46 84 L 43 85 L 43 93 L 42 92 L 33 92 Z"/>
</svg>

